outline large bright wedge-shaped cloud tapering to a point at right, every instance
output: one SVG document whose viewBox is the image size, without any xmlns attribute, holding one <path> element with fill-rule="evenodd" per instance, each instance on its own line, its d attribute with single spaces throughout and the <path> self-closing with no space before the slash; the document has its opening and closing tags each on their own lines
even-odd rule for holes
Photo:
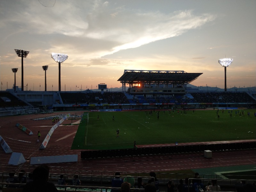
<svg viewBox="0 0 256 192">
<path fill-rule="evenodd" d="M 6 31 L 5 39 L 19 34 L 23 39 L 34 37 L 37 46 L 48 45 L 51 47 L 45 46 L 45 49 L 64 50 L 81 59 L 100 58 L 180 36 L 216 17 L 196 15 L 192 10 L 163 13 L 131 9 L 100 0 L 58 1 L 54 7 L 20 1 L 9 3 L 7 7 L 9 9 L 2 9 L 4 18 L 1 18 L 0 28 L 11 28 L 12 32 Z M 24 38 L 26 33 L 32 36 Z"/>
</svg>

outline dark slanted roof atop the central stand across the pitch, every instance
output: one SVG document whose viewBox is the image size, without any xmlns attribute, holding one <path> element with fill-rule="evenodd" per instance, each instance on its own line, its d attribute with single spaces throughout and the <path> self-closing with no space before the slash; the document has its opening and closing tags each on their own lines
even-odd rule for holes
<svg viewBox="0 0 256 192">
<path fill-rule="evenodd" d="M 145 71 L 145 70 L 124 70 L 124 74 L 117 80 L 121 83 L 190 83 L 203 73 L 187 73 L 185 71 Z"/>
</svg>

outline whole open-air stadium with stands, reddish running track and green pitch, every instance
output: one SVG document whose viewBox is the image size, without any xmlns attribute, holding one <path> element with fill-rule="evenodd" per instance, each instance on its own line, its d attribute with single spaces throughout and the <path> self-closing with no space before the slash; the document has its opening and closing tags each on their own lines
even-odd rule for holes
<svg viewBox="0 0 256 192">
<path fill-rule="evenodd" d="M 50 167 L 52 182 L 60 174 L 66 180 L 78 175 L 87 186 L 81 190 L 111 189 L 115 172 L 147 181 L 153 171 L 162 186 L 195 172 L 204 184 L 217 179 L 226 191 L 240 180 L 253 183 L 255 92 L 188 87 L 201 74 L 124 70 L 120 92 L 106 84 L 99 90 L 1 91 L 2 183 L 9 172 L 26 170 L 28 177 L 40 164 Z"/>
</svg>

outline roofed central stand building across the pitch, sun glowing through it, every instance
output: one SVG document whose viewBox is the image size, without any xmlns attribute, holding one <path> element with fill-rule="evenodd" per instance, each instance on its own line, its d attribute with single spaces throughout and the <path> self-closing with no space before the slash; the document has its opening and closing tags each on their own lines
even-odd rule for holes
<svg viewBox="0 0 256 192">
<path fill-rule="evenodd" d="M 122 83 L 123 92 L 128 85 L 128 93 L 131 95 L 143 95 L 145 97 L 183 96 L 187 84 L 202 74 L 185 71 L 125 69 L 124 74 L 117 81 Z"/>
</svg>

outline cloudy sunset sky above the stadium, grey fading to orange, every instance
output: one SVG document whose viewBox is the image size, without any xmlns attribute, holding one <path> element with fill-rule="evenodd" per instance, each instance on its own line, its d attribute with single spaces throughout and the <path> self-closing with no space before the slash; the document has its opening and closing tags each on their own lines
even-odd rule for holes
<svg viewBox="0 0 256 192">
<path fill-rule="evenodd" d="M 121 87 L 124 69 L 183 70 L 203 73 L 191 84 L 224 88 L 224 67 L 231 58 L 227 87 L 256 85 L 255 0 L 1 0 L 1 88 L 24 86 L 58 90 L 58 63 L 64 53 L 61 91 Z M 41 87 L 40 87 L 41 85 Z M 79 87 L 79 88 L 76 88 Z M 26 90 L 26 88 L 24 88 Z"/>
</svg>

